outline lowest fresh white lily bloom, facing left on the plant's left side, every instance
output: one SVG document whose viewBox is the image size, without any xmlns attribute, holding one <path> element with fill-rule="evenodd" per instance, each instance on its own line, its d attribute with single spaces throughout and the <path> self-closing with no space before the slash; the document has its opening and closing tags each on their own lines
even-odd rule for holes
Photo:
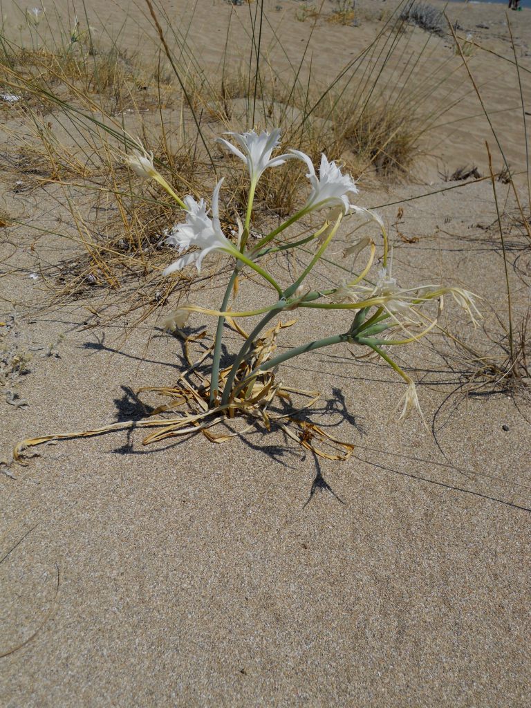
<svg viewBox="0 0 531 708">
<path fill-rule="evenodd" d="M 219 189 L 222 182 L 222 179 L 219 180 L 212 195 L 212 219 L 207 215 L 204 199 L 196 202 L 193 197 L 185 197 L 184 202 L 188 210 L 186 221 L 184 224 L 176 224 L 171 229 L 166 244 L 175 246 L 179 253 L 191 246 L 197 246 L 200 250 L 178 258 L 175 263 L 164 270 L 162 275 L 175 273 L 176 270 L 182 270 L 185 265 L 190 265 L 190 263 L 195 263 L 195 267 L 199 271 L 202 259 L 210 251 L 225 251 L 232 255 L 237 253 L 234 245 L 224 236 L 219 223 Z"/>
</svg>

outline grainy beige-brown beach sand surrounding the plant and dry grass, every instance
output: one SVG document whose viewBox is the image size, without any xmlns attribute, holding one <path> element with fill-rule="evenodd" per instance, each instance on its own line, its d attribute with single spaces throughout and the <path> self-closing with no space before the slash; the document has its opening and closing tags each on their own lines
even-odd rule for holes
<svg viewBox="0 0 531 708">
<path fill-rule="evenodd" d="M 275 4 L 268 13 L 277 23 Z M 295 20 L 295 3 L 280 4 L 279 26 L 284 41 L 293 38 L 295 59 L 310 23 Z M 189 5 L 165 4 L 183 17 Z M 368 11 L 396 3 L 359 5 Z M 145 13 L 142 4 L 120 10 L 101 0 L 90 11 L 108 13 L 109 23 L 120 12 L 138 21 Z M 200 2 L 189 28 L 212 67 L 230 12 L 220 1 Z M 234 12 L 242 23 L 249 16 L 246 7 Z M 449 14 L 463 32 L 512 55 L 504 6 L 450 4 Z M 514 15 L 518 60 L 531 69 L 531 11 Z M 377 28 L 368 19 L 359 28 L 320 21 L 312 42 L 322 80 Z M 412 30 L 411 50 L 427 36 Z M 445 51 L 437 42 L 435 59 Z M 490 107 L 518 107 L 513 67 L 501 61 L 486 56 L 471 66 Z M 464 78 L 455 79 L 456 91 Z M 471 118 L 439 129 L 438 147 L 418 158 L 415 183 L 362 189 L 360 204 L 392 202 L 379 211 L 401 284 L 462 285 L 483 298 L 477 330 L 450 302 L 446 323 L 470 346 L 503 358 L 506 285 L 491 184 L 438 175 L 473 163 L 485 174 L 485 139 L 498 166 L 499 156 L 472 94 L 453 111 L 452 119 Z M 510 164 L 525 169 L 521 113 L 503 116 L 493 120 Z M 7 149 L 5 135 L 1 142 Z M 17 193 L 4 175 L 3 205 L 54 230 L 68 219 L 55 186 Z M 508 185 L 498 190 L 520 324 L 529 307 L 531 250 L 515 225 Z M 45 307 L 47 278 L 28 275 L 45 273 L 76 247 L 53 237 L 35 244 L 23 227 L 4 233 L 0 320 L 16 311 L 18 341 L 33 360 L 16 385 L 28 406 L 0 396 L 0 459 L 33 435 L 139 418 L 136 390 L 175 381 L 181 341 L 154 318 L 135 329 L 127 318 L 98 324 L 106 319 L 95 312 L 122 307 L 120 293 L 95 288 Z M 338 251 L 345 236 L 338 234 Z M 278 263 L 280 275 L 284 267 Z M 325 265 L 315 276 L 331 277 Z M 200 282 L 190 299 L 218 307 L 224 282 Z M 265 297 L 256 282 L 241 284 L 246 303 Z M 327 316 L 290 315 L 298 321 L 282 332 L 280 346 L 331 333 Z M 189 324 L 212 331 L 202 315 Z M 57 356 L 42 356 L 59 336 Z M 236 346 L 232 333 L 227 346 Z M 142 430 L 124 430 L 35 448 L 39 456 L 27 467 L 0 466 L 0 704 L 526 707 L 528 395 L 486 386 L 467 396 L 476 365 L 438 334 L 402 350 L 399 361 L 418 383 L 428 430 L 416 416 L 394 423 L 404 384 L 387 367 L 355 362 L 348 348 L 282 369 L 286 384 L 322 392 L 308 417 L 355 444 L 347 462 L 318 460 L 273 428 L 223 445 L 198 435 L 147 447 Z"/>
</svg>

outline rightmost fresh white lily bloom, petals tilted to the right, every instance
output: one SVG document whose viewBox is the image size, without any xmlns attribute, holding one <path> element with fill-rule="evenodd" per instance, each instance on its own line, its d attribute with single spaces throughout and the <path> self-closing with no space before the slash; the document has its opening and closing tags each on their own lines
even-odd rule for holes
<svg viewBox="0 0 531 708">
<path fill-rule="evenodd" d="M 358 194 L 353 178 L 350 175 L 343 175 L 336 163 L 329 162 L 325 154 L 321 155 L 319 178 L 317 178 L 314 164 L 306 153 L 300 150 L 290 150 L 290 152 L 304 161 L 309 169 L 307 177 L 312 184 L 312 193 L 304 210 L 313 212 L 324 207 L 338 206 L 343 209 L 343 214 L 346 214 L 351 208 L 348 193 Z"/>
</svg>

